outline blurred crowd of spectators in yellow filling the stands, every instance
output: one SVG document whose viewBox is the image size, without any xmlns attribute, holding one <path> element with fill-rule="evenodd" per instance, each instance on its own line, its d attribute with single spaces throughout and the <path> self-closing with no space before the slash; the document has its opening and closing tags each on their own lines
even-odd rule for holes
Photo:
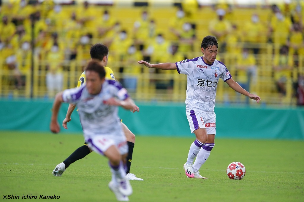
<svg viewBox="0 0 304 202">
<path fill-rule="evenodd" d="M 284 2 L 240 8 L 185 1 L 178 7 L 121 8 L 88 2 L 60 5 L 52 0 L 10 0 L 0 10 L 0 88 L 22 89 L 27 82 L 23 75 L 31 73 L 32 61 L 34 71 L 40 72 L 34 85 L 44 86 L 49 96 L 74 87 L 77 81 L 64 84 L 64 72 L 74 71 L 77 78 L 83 61 L 90 59 L 90 46 L 101 42 L 110 50 L 109 67 L 130 91 L 136 92 L 138 76 L 143 73 L 170 74 L 170 79 L 150 79 L 154 88 L 168 90 L 173 88 L 172 74 L 177 72 L 149 72 L 136 61 L 191 59 L 201 55 L 202 38 L 215 35 L 219 40 L 217 59 L 241 86 L 253 92 L 260 91 L 258 86 L 263 89 L 263 84 L 275 86 L 270 93 L 278 93 L 279 99 L 286 94 L 298 96 L 301 105 L 304 2 Z"/>
</svg>

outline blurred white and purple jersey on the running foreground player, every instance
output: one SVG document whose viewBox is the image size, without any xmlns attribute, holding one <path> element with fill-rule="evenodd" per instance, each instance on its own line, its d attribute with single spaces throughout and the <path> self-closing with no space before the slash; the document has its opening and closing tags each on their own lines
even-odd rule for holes
<svg viewBox="0 0 304 202">
<path fill-rule="evenodd" d="M 101 92 L 97 95 L 89 94 L 86 85 L 64 90 L 62 94 L 64 102 L 77 105 L 85 138 L 92 135 L 123 134 L 118 119 L 118 107 L 103 103 L 111 97 L 125 100 L 129 95 L 127 90 L 115 80 L 105 80 Z"/>
</svg>

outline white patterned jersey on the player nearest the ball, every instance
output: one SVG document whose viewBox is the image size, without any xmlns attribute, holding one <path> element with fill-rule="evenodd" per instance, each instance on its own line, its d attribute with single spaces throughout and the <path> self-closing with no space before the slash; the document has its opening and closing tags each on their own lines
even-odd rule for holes
<svg viewBox="0 0 304 202">
<path fill-rule="evenodd" d="M 186 111 L 198 109 L 214 113 L 219 78 L 225 82 L 231 78 L 226 66 L 218 60 L 212 65 L 206 64 L 202 56 L 175 64 L 178 73 L 187 75 Z"/>
</svg>

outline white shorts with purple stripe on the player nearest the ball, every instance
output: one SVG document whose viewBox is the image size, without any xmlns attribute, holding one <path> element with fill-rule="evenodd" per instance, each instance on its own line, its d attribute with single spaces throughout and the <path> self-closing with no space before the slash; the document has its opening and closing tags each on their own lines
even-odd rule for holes
<svg viewBox="0 0 304 202">
<path fill-rule="evenodd" d="M 216 134 L 215 113 L 202 111 L 186 111 L 191 133 L 199 128 L 206 128 L 207 134 Z"/>
</svg>

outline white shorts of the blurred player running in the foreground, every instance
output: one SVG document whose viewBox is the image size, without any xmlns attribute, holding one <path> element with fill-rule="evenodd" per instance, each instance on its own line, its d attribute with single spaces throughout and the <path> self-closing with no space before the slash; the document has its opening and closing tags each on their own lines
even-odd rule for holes
<svg viewBox="0 0 304 202">
<path fill-rule="evenodd" d="M 110 146 L 115 145 L 120 154 L 128 153 L 128 145 L 125 136 L 113 136 L 113 135 L 94 135 L 88 136 L 85 139 L 91 150 L 104 155 L 104 152 L 109 149 Z"/>
</svg>

